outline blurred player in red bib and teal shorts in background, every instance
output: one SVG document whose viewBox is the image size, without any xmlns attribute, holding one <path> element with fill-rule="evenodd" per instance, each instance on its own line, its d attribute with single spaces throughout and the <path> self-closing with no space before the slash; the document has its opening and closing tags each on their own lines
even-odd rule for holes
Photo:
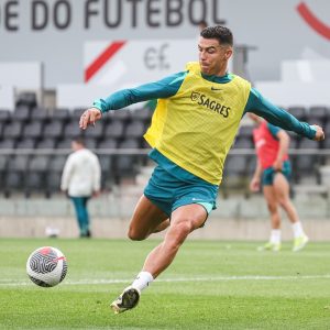
<svg viewBox="0 0 330 330">
<path fill-rule="evenodd" d="M 282 221 L 278 207 L 282 207 L 293 224 L 295 238 L 293 251 L 297 252 L 307 244 L 308 237 L 304 232 L 297 210 L 289 197 L 292 167 L 287 153 L 290 138 L 284 130 L 267 123 L 258 116 L 249 113 L 249 117 L 256 124 L 256 129 L 253 130 L 253 140 L 257 155 L 250 189 L 258 191 L 262 185 L 272 224 L 270 241 L 264 246 L 260 246 L 258 250 L 274 252 L 280 250 Z"/>
</svg>

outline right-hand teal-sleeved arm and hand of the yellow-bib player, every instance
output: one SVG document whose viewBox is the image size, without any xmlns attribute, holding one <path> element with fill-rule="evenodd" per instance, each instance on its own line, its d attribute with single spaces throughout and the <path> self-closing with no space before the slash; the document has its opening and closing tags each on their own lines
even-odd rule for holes
<svg viewBox="0 0 330 330">
<path fill-rule="evenodd" d="M 310 140 L 324 140 L 322 128 L 318 125 L 310 125 L 306 122 L 300 122 L 287 111 L 274 106 L 265 99 L 256 89 L 252 88 L 249 100 L 245 106 L 245 112 L 253 112 L 263 117 L 272 124 L 279 127 L 286 131 L 294 131 L 295 133 L 306 136 Z"/>
</svg>

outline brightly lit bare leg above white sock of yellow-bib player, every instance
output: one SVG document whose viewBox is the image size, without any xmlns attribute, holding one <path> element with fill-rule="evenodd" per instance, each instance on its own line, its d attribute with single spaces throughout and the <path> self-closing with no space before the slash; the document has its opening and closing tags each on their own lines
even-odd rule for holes
<svg viewBox="0 0 330 330">
<path fill-rule="evenodd" d="M 173 262 L 188 234 L 205 222 L 207 212 L 200 205 L 188 205 L 172 213 L 170 226 L 164 241 L 146 257 L 143 271 L 156 278 Z"/>
</svg>

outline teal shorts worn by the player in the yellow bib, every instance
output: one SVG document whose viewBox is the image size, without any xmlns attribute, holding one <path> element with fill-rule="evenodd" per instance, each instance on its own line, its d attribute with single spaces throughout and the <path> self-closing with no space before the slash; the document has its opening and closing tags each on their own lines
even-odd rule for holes
<svg viewBox="0 0 330 330">
<path fill-rule="evenodd" d="M 197 176 L 186 182 L 173 176 L 161 166 L 156 166 L 144 196 L 163 210 L 169 218 L 180 206 L 199 204 L 207 213 L 216 209 L 219 186 L 209 184 Z"/>
</svg>

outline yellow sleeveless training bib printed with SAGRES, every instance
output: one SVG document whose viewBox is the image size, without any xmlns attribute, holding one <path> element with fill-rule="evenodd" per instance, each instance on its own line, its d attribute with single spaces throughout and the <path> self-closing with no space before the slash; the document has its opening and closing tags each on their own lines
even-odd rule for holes
<svg viewBox="0 0 330 330">
<path fill-rule="evenodd" d="M 187 69 L 178 92 L 158 100 L 144 138 L 178 166 L 219 185 L 251 84 L 239 76 L 227 84 L 206 80 L 198 63 Z"/>
</svg>

